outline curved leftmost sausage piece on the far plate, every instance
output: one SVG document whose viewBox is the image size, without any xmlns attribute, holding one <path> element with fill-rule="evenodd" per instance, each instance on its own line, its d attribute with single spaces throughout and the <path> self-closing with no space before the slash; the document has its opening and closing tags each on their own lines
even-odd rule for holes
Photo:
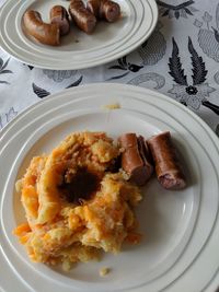
<svg viewBox="0 0 219 292">
<path fill-rule="evenodd" d="M 34 10 L 27 10 L 23 15 L 25 32 L 45 45 L 60 45 L 60 30 L 58 24 L 44 23 L 41 14 Z"/>
</svg>

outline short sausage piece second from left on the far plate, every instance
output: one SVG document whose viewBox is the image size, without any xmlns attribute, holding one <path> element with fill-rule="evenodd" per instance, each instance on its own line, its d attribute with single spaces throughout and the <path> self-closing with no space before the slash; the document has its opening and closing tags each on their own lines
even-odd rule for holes
<svg viewBox="0 0 219 292">
<path fill-rule="evenodd" d="M 67 10 L 61 5 L 55 5 L 50 10 L 50 22 L 57 23 L 60 35 L 67 35 L 70 31 L 70 23 Z"/>
</svg>

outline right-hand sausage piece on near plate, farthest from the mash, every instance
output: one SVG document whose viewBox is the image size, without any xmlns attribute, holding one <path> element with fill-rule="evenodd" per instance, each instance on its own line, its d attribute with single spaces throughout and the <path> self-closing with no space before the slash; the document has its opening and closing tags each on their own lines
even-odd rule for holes
<svg viewBox="0 0 219 292">
<path fill-rule="evenodd" d="M 157 135 L 148 140 L 158 180 L 166 189 L 181 189 L 186 186 L 185 176 L 181 170 L 176 149 L 169 131 Z"/>
</svg>

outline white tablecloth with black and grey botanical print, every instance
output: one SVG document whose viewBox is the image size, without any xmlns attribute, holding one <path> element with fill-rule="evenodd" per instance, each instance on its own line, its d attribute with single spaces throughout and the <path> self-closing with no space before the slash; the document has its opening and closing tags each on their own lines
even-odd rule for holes
<svg viewBox="0 0 219 292">
<path fill-rule="evenodd" d="M 138 0 L 136 0 L 138 1 Z M 0 5 L 4 1 L 0 0 Z M 123 58 L 87 70 L 42 70 L 0 49 L 0 128 L 49 94 L 93 82 L 154 89 L 184 104 L 219 135 L 219 1 L 158 0 L 150 38 Z"/>
</svg>

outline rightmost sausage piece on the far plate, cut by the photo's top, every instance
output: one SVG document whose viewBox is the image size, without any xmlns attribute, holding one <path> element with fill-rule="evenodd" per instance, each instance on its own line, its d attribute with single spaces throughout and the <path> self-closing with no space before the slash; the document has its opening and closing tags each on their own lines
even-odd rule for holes
<svg viewBox="0 0 219 292">
<path fill-rule="evenodd" d="M 89 0 L 87 8 L 97 17 L 115 22 L 120 16 L 120 7 L 111 0 Z"/>
</svg>

